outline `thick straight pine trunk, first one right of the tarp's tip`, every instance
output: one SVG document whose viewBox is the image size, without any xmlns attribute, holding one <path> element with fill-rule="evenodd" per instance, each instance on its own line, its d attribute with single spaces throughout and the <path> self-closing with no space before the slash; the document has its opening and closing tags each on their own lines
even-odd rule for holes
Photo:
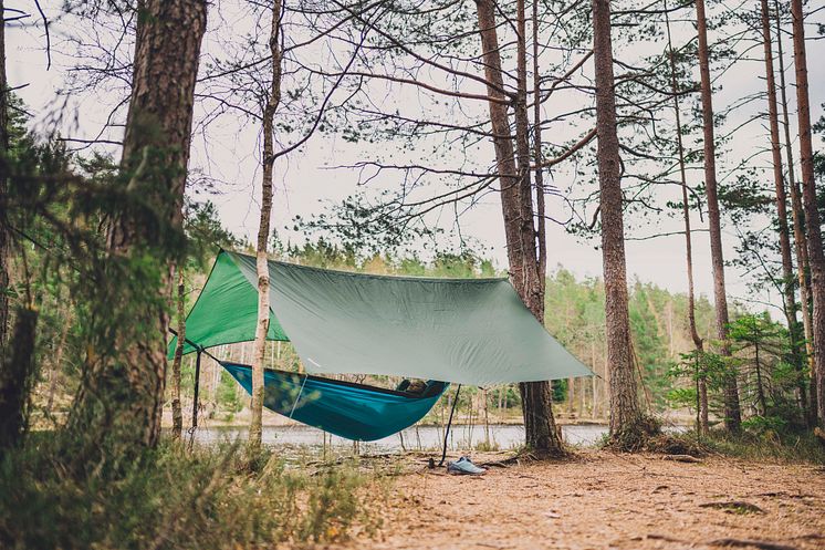
<svg viewBox="0 0 825 550">
<path fill-rule="evenodd" d="M 593 55 L 596 72 L 596 136 L 607 363 L 610 369 L 610 437 L 618 443 L 638 432 L 641 411 L 630 349 L 622 211 L 622 159 L 616 133 L 609 0 L 593 0 Z"/>
</svg>

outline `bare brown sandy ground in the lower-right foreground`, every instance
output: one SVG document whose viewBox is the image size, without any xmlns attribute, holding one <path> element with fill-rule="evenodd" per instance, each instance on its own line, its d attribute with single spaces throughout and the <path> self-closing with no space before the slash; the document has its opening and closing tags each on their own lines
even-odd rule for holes
<svg viewBox="0 0 825 550">
<path fill-rule="evenodd" d="M 479 477 L 411 470 L 378 536 L 346 548 L 825 549 L 823 467 L 585 450 Z"/>
</svg>

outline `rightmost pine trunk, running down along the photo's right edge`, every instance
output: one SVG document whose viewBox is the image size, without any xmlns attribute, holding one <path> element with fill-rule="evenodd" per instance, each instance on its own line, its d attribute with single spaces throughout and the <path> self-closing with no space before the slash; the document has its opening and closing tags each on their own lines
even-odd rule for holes
<svg viewBox="0 0 825 550">
<path fill-rule="evenodd" d="M 807 60 L 802 0 L 791 0 L 793 17 L 794 66 L 796 69 L 796 107 L 800 132 L 800 164 L 802 165 L 802 197 L 805 203 L 807 258 L 811 268 L 811 293 L 814 299 L 814 377 L 816 378 L 817 415 L 825 423 L 825 251 L 816 208 L 814 152 L 811 141 L 811 105 L 808 101 Z"/>
</svg>

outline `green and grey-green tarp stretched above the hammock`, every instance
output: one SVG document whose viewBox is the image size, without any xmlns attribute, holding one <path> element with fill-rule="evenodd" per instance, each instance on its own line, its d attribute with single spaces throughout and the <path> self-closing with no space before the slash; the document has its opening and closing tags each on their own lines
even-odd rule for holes
<svg viewBox="0 0 825 550">
<path fill-rule="evenodd" d="M 280 261 L 269 271 L 269 338 L 291 341 L 310 373 L 479 386 L 593 374 L 507 279 L 385 277 Z M 189 312 L 187 340 L 203 347 L 254 340 L 257 280 L 254 257 L 222 251 Z"/>
</svg>

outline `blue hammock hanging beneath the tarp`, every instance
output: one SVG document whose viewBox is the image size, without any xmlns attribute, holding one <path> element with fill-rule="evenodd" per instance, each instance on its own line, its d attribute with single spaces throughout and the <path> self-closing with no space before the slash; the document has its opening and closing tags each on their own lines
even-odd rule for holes
<svg viewBox="0 0 825 550">
<path fill-rule="evenodd" d="M 220 362 L 252 393 L 252 367 Z M 429 381 L 421 395 L 311 374 L 265 370 L 263 405 L 270 411 L 347 439 L 373 442 L 405 429 L 426 415 L 447 390 Z"/>
</svg>

